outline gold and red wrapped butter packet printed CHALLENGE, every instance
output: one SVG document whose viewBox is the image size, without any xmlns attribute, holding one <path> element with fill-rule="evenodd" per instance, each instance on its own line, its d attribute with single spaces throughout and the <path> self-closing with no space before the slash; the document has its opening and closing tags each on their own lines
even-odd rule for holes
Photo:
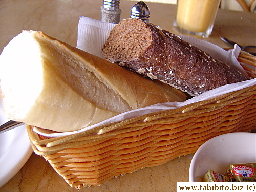
<svg viewBox="0 0 256 192">
<path fill-rule="evenodd" d="M 236 181 L 256 182 L 256 163 L 231 164 L 230 170 Z"/>
</svg>

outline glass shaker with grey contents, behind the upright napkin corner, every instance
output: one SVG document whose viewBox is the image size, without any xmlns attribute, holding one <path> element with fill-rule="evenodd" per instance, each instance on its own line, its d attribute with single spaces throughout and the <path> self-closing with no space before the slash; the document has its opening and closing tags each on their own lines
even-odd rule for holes
<svg viewBox="0 0 256 192">
<path fill-rule="evenodd" d="M 100 7 L 100 20 L 102 22 L 109 22 L 118 24 L 122 9 L 120 9 L 119 0 L 103 0 L 103 6 Z"/>
</svg>

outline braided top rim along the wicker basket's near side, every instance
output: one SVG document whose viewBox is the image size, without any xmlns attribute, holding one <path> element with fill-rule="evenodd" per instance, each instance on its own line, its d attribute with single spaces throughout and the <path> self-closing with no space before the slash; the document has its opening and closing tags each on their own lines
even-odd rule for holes
<svg viewBox="0 0 256 192">
<path fill-rule="evenodd" d="M 195 109 L 197 110 L 200 109 L 201 110 L 200 112 L 202 113 L 204 111 L 207 111 L 208 113 L 210 113 L 211 110 L 216 110 L 217 108 L 222 109 L 223 106 L 225 106 L 229 102 L 238 101 L 239 99 L 241 100 L 244 97 L 247 97 L 248 95 L 253 95 L 253 94 L 256 94 L 256 86 L 250 86 L 250 87 L 241 89 L 239 91 L 230 92 L 230 93 L 220 95 L 219 97 L 215 97 L 208 100 L 191 103 L 176 109 L 148 113 L 139 117 L 134 117 L 134 118 L 119 121 L 119 122 L 104 124 L 101 126 L 97 126 L 88 131 L 74 133 L 72 135 L 67 135 L 67 136 L 41 139 L 38 136 L 38 134 L 34 133 L 33 131 L 29 131 L 31 129 L 28 129 L 28 133 L 31 136 L 33 143 L 35 145 L 47 145 L 48 147 L 71 142 L 72 140 L 76 140 L 81 137 L 92 137 L 92 135 L 94 135 L 94 137 L 95 135 L 98 135 L 99 138 L 103 138 L 103 137 L 108 137 L 111 134 L 117 134 L 120 128 L 122 129 L 121 132 L 123 132 L 124 129 L 129 129 L 129 128 L 138 130 L 138 129 L 142 129 L 143 126 L 154 124 L 156 121 L 158 121 L 161 118 L 167 118 L 172 115 L 176 115 L 176 118 L 178 118 L 180 116 L 188 117 L 192 113 L 192 115 L 194 116 L 195 114 L 193 114 L 193 110 Z M 235 98 L 237 96 L 239 96 L 238 99 L 229 101 L 230 99 Z M 214 106 L 211 106 L 211 105 L 214 105 Z M 211 107 L 212 109 L 210 109 L 209 107 Z"/>
</svg>

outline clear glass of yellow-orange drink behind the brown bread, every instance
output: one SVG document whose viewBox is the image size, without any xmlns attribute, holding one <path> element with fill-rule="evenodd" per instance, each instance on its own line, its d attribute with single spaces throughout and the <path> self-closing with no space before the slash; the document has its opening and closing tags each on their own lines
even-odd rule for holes
<svg viewBox="0 0 256 192">
<path fill-rule="evenodd" d="M 220 0 L 177 0 L 174 27 L 182 34 L 208 38 L 219 5 Z"/>
</svg>

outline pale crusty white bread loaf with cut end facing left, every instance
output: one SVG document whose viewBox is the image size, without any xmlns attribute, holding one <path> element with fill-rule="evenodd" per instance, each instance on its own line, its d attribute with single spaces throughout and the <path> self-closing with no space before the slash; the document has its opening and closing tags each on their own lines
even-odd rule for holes
<svg viewBox="0 0 256 192">
<path fill-rule="evenodd" d="M 58 132 L 79 130 L 144 106 L 185 99 L 176 89 L 167 89 L 39 31 L 23 31 L 4 48 L 0 90 L 7 118 Z"/>
</svg>

